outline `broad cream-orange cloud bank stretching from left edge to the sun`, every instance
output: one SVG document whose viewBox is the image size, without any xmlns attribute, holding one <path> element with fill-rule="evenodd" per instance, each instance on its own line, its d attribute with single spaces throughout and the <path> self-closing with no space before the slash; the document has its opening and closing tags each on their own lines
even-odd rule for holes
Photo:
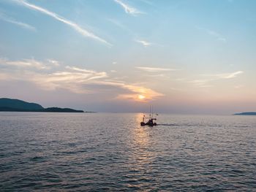
<svg viewBox="0 0 256 192">
<path fill-rule="evenodd" d="M 115 78 L 109 77 L 107 72 L 97 72 L 77 66 L 53 65 L 54 67 L 50 67 L 52 63 L 59 64 L 58 61 L 49 62 L 49 60 L 45 62 L 34 59 L 10 61 L 0 58 L 0 66 L 5 66 L 1 67 L 0 80 L 27 81 L 48 91 L 61 88 L 82 94 L 102 93 L 100 88 L 108 86 L 112 90 L 111 92 L 116 95 L 115 99 L 132 99 L 134 101 L 138 101 L 138 95 L 146 97 L 143 101 L 151 101 L 162 96 L 162 93 L 151 88 L 115 80 Z"/>
</svg>

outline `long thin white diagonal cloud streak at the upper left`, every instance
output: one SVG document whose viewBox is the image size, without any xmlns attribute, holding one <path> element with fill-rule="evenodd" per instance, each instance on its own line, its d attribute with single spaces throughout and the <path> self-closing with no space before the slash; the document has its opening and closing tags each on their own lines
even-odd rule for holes
<svg viewBox="0 0 256 192">
<path fill-rule="evenodd" d="M 108 46 L 112 46 L 105 39 L 102 39 L 102 38 L 98 37 L 97 35 L 87 31 L 86 29 L 79 26 L 77 23 L 74 23 L 71 20 L 67 20 L 66 18 L 63 18 L 60 15 L 57 15 L 55 12 L 50 12 L 48 9 L 44 9 L 44 8 L 34 5 L 34 4 L 30 4 L 29 2 L 27 2 L 25 0 L 12 0 L 12 1 L 15 1 L 18 4 L 20 4 L 24 7 L 27 7 L 29 9 L 36 10 L 38 12 L 42 12 L 45 15 L 49 15 L 50 17 L 61 21 L 61 23 L 65 23 L 67 26 L 70 26 L 71 28 L 75 29 L 75 31 L 78 31 L 78 33 L 80 33 L 84 37 L 89 37 L 91 39 L 97 40 L 98 42 L 102 42 Z"/>
</svg>

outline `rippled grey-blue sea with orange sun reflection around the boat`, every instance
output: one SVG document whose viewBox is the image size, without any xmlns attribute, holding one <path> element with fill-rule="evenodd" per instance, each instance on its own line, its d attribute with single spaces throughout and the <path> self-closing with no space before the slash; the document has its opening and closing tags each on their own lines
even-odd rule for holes
<svg viewBox="0 0 256 192">
<path fill-rule="evenodd" d="M 256 116 L 0 112 L 0 191 L 256 191 Z"/>
</svg>

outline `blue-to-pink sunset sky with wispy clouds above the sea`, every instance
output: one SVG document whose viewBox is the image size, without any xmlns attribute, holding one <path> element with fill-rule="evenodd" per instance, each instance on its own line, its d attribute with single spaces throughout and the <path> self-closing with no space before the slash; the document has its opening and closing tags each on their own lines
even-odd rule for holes
<svg viewBox="0 0 256 192">
<path fill-rule="evenodd" d="M 255 0 L 0 0 L 0 97 L 98 112 L 256 111 Z"/>
</svg>

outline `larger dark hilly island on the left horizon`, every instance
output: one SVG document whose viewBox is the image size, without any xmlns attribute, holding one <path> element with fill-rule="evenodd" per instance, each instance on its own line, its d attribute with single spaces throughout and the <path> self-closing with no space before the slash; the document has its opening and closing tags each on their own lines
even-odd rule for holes
<svg viewBox="0 0 256 192">
<path fill-rule="evenodd" d="M 84 112 L 69 108 L 49 107 L 44 108 L 40 104 L 29 103 L 19 99 L 0 99 L 0 111 L 5 112 Z"/>
</svg>

